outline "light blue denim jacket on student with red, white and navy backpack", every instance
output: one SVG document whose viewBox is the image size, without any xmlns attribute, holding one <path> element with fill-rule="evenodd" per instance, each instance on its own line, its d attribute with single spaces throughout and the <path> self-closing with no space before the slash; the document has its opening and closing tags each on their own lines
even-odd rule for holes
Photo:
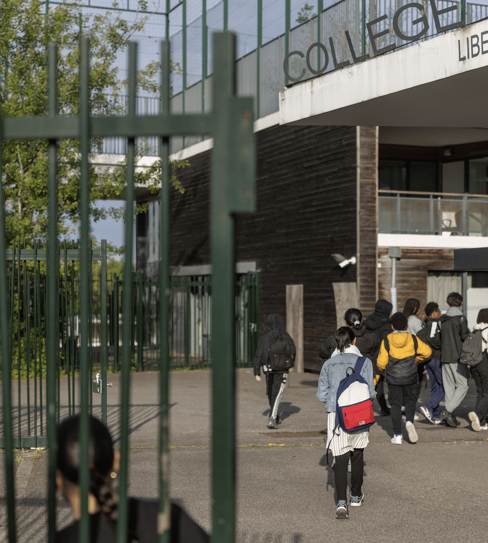
<svg viewBox="0 0 488 543">
<path fill-rule="evenodd" d="M 325 402 L 326 413 L 336 411 L 336 396 L 339 383 L 346 376 L 346 370 L 348 368 L 354 368 L 357 359 L 357 355 L 344 352 L 339 353 L 324 362 L 322 371 L 320 371 L 317 398 L 321 402 Z M 373 363 L 369 358 L 367 358 L 363 364 L 361 377 L 368 383 L 371 400 L 374 400 L 376 397 L 376 390 L 373 380 Z"/>
</svg>

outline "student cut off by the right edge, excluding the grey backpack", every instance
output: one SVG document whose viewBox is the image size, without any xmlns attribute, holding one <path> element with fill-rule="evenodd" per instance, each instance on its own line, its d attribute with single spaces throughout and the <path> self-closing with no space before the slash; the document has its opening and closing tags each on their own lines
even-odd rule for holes
<svg viewBox="0 0 488 543">
<path fill-rule="evenodd" d="M 488 309 L 482 309 L 478 313 L 473 332 L 481 331 L 481 352 L 483 359 L 476 366 L 471 367 L 471 375 L 476 384 L 476 408 L 468 414 L 471 427 L 475 432 L 488 430 Z"/>
</svg>

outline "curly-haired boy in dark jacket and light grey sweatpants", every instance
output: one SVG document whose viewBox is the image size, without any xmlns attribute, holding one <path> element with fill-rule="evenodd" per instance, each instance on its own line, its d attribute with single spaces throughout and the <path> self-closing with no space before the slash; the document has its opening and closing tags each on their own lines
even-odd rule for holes
<svg viewBox="0 0 488 543">
<path fill-rule="evenodd" d="M 468 390 L 468 367 L 459 363 L 464 340 L 469 336 L 466 317 L 461 311 L 463 296 L 451 292 L 447 296 L 449 309 L 440 318 L 442 385 L 446 409 L 442 418 L 447 426 L 456 428 L 460 422 L 453 415 L 455 408 L 464 400 Z"/>
</svg>

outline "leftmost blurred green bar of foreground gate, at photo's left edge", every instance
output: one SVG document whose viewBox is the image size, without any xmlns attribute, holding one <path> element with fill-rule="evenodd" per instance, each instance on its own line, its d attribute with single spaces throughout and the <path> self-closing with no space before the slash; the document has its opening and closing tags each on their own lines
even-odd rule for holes
<svg viewBox="0 0 488 543">
<path fill-rule="evenodd" d="M 1 115 L 1 111 L 0 111 Z M 2 118 L 0 116 L 0 149 L 2 148 Z M 3 179 L 2 153 L 0 152 L 0 179 Z M 3 190 L 0 191 L 0 306 L 7 308 L 7 261 L 5 250 L 7 244 L 5 239 L 5 200 Z M 14 260 L 12 259 L 12 266 Z M 12 272 L 13 275 L 13 272 Z M 12 302 L 13 303 L 13 302 Z M 15 526 L 15 488 L 14 488 L 14 442 L 12 439 L 12 369 L 10 351 L 10 326 L 9 312 L 2 311 L 0 314 L 0 350 L 2 353 L 2 394 L 3 394 L 3 428 L 5 439 L 5 491 L 7 492 L 7 519 L 9 543 L 17 540 Z M 19 406 L 20 408 L 20 406 Z"/>
</svg>

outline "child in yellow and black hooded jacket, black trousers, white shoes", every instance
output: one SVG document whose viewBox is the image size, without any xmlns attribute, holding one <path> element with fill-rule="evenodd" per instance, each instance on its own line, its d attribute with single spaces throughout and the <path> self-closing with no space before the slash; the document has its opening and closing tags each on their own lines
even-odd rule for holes
<svg viewBox="0 0 488 543">
<path fill-rule="evenodd" d="M 429 358 L 432 349 L 407 332 L 408 320 L 403 313 L 391 315 L 391 327 L 393 332 L 381 342 L 376 361 L 378 369 L 385 370 L 385 381 L 388 383 L 388 400 L 393 422 L 391 443 L 402 444 L 402 405 L 405 406 L 408 438 L 410 443 L 416 443 L 419 436 L 413 421 L 417 403 L 417 362 Z"/>
</svg>

